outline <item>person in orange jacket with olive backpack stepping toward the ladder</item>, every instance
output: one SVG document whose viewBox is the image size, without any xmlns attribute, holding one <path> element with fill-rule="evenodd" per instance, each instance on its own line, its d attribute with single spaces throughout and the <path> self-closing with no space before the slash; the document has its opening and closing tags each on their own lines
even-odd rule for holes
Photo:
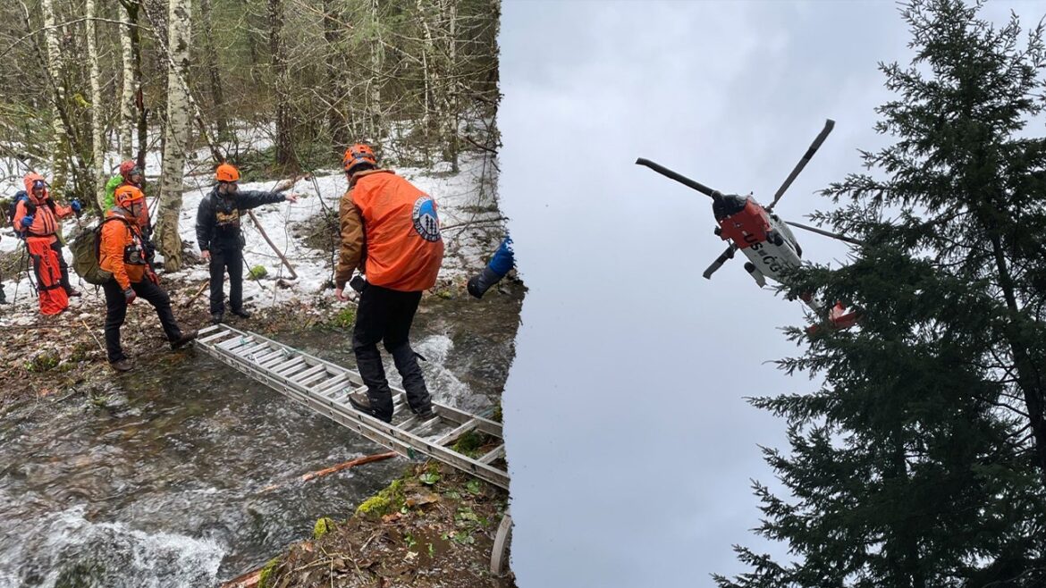
<svg viewBox="0 0 1046 588">
<path fill-rule="evenodd" d="M 116 188 L 116 206 L 106 213 L 98 240 L 98 267 L 113 274 L 101 285 L 106 292 L 106 352 L 109 365 L 117 371 L 134 367 L 120 346 L 120 326 L 127 317 L 128 304 L 140 296 L 153 304 L 160 318 L 163 333 L 172 349 L 178 349 L 196 339 L 197 332 L 183 333 L 170 310 L 170 297 L 160 288 L 160 278 L 150 267 L 145 255 L 145 240 L 138 226 L 145 195 L 134 185 Z"/>
</svg>

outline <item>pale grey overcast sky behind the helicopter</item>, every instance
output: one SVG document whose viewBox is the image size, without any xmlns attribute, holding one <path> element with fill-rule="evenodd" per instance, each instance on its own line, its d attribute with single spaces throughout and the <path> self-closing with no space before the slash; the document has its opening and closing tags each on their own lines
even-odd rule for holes
<svg viewBox="0 0 1046 588">
<path fill-rule="evenodd" d="M 750 480 L 777 485 L 758 445 L 784 423 L 744 397 L 806 392 L 769 361 L 798 303 L 759 290 L 724 249 L 710 200 L 634 164 L 646 157 L 764 203 L 825 118 L 836 129 L 776 211 L 860 171 L 879 62 L 907 64 L 892 2 L 506 1 L 499 113 L 502 209 L 529 287 L 505 432 L 523 588 L 711 586 L 764 542 Z M 1032 25 L 1036 2 L 995 2 Z M 809 259 L 837 242 L 798 234 Z M 738 257 L 741 257 L 738 255 Z"/>
</svg>

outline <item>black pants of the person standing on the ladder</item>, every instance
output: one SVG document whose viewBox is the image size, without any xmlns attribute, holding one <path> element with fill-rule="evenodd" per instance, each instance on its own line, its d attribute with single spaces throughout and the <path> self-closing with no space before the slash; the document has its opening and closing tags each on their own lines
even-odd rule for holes
<svg viewBox="0 0 1046 588">
<path fill-rule="evenodd" d="M 385 350 L 392 356 L 396 371 L 403 378 L 411 410 L 416 413 L 432 406 L 422 368 L 417 365 L 417 356 L 408 341 L 410 325 L 414 322 L 414 313 L 420 300 L 420 292 L 399 292 L 374 285 L 367 285 L 360 294 L 353 331 L 353 352 L 356 354 L 356 366 L 367 385 L 370 406 L 377 411 L 376 415 L 385 421 L 392 417 L 392 391 L 385 379 L 382 356 L 378 353 L 379 341 L 384 342 Z"/>
</svg>

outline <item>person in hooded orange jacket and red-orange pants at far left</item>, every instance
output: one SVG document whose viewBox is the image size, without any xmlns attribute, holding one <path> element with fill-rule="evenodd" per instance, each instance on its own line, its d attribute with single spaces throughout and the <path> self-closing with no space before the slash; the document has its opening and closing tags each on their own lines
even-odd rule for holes
<svg viewBox="0 0 1046 588">
<path fill-rule="evenodd" d="M 40 294 L 40 312 L 59 314 L 69 306 L 70 296 L 79 296 L 69 282 L 69 266 L 62 255 L 59 241 L 59 220 L 79 212 L 79 202 L 62 206 L 51 199 L 43 176 L 26 174 L 23 179 L 27 198 L 15 208 L 15 230 L 25 238 L 25 246 L 32 258 Z"/>
</svg>

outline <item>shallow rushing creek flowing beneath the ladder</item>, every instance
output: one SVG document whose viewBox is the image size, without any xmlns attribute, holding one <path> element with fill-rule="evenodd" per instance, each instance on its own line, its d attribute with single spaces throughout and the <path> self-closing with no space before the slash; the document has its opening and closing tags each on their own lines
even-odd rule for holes
<svg viewBox="0 0 1046 588">
<path fill-rule="evenodd" d="M 508 290 L 423 302 L 412 341 L 436 401 L 499 401 L 523 293 Z M 269 336 L 355 365 L 347 332 Z M 196 350 L 16 406 L 0 416 L 0 588 L 214 585 L 349 517 L 407 461 L 299 476 L 383 451 Z"/>
</svg>

